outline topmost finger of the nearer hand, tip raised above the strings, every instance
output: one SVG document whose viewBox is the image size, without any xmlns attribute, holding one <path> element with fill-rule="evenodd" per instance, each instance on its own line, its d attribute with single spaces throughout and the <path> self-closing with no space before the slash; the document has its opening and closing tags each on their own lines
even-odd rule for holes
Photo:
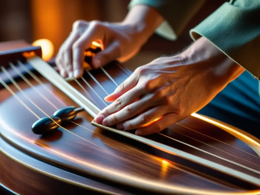
<svg viewBox="0 0 260 195">
<path fill-rule="evenodd" d="M 133 73 L 130 75 L 124 82 L 122 82 L 116 89 L 115 91 L 105 97 L 105 101 L 107 102 L 113 102 L 116 99 L 118 99 L 121 95 L 125 94 L 132 88 L 136 86 L 138 83 L 138 76 L 137 74 Z"/>
</svg>

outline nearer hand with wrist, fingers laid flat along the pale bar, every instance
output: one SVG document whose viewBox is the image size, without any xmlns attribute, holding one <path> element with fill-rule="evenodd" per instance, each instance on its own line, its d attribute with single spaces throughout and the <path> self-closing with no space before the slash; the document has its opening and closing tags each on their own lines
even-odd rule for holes
<svg viewBox="0 0 260 195">
<path fill-rule="evenodd" d="M 160 132 L 206 106 L 243 71 L 203 37 L 181 54 L 137 68 L 94 120 L 138 135 Z"/>
</svg>

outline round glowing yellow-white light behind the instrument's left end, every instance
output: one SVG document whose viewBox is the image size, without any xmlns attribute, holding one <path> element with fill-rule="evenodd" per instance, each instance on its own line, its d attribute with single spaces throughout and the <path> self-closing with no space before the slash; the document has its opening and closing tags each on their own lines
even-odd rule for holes
<svg viewBox="0 0 260 195">
<path fill-rule="evenodd" d="M 40 46 L 42 48 L 42 59 L 49 61 L 54 53 L 54 45 L 48 39 L 38 39 L 33 42 L 33 46 Z"/>
</svg>

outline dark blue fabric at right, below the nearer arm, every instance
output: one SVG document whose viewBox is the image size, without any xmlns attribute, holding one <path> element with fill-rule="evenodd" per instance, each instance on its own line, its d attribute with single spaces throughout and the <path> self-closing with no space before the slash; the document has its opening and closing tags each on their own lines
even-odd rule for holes
<svg viewBox="0 0 260 195">
<path fill-rule="evenodd" d="M 197 113 L 226 122 L 260 139 L 258 90 L 258 80 L 245 71 Z"/>
</svg>

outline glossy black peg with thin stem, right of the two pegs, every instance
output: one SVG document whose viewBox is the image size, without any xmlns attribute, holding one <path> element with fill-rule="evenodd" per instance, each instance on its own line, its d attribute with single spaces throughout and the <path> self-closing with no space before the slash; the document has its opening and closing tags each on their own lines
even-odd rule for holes
<svg viewBox="0 0 260 195">
<path fill-rule="evenodd" d="M 76 108 L 74 106 L 68 106 L 57 110 L 53 116 L 59 117 L 62 122 L 73 121 L 77 114 L 82 112 L 84 108 Z"/>
</svg>

